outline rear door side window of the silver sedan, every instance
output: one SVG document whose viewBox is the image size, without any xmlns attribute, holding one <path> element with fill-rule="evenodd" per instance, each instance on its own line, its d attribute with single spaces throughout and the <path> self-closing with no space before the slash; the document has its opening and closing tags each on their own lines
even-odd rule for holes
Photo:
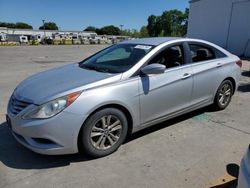
<svg viewBox="0 0 250 188">
<path fill-rule="evenodd" d="M 194 63 L 216 59 L 214 51 L 208 47 L 197 44 L 189 44 L 189 48 Z"/>
</svg>

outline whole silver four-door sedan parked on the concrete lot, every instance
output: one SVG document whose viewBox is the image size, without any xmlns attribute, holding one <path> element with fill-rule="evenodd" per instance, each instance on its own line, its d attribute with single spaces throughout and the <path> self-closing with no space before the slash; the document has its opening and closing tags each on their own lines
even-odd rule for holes
<svg viewBox="0 0 250 188">
<path fill-rule="evenodd" d="M 21 82 L 10 97 L 7 123 L 34 152 L 102 157 L 148 126 L 207 105 L 226 108 L 241 65 L 203 40 L 125 41 Z"/>
</svg>

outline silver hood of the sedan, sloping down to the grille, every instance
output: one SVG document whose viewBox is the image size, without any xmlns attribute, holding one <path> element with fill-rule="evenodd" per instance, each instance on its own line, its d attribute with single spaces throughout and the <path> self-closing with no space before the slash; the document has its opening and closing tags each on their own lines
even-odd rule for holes
<svg viewBox="0 0 250 188">
<path fill-rule="evenodd" d="M 117 74 L 87 70 L 80 68 L 78 64 L 70 64 L 27 78 L 17 86 L 14 95 L 20 100 L 39 105 L 68 93 L 114 82 L 120 78 Z"/>
</svg>

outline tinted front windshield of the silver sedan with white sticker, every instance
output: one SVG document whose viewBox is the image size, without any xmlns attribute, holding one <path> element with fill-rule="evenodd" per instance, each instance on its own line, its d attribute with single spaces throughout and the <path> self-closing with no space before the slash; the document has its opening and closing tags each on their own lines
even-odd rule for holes
<svg viewBox="0 0 250 188">
<path fill-rule="evenodd" d="M 150 45 L 117 44 L 85 59 L 79 66 L 99 72 L 122 73 L 133 67 L 152 49 L 153 46 Z"/>
</svg>

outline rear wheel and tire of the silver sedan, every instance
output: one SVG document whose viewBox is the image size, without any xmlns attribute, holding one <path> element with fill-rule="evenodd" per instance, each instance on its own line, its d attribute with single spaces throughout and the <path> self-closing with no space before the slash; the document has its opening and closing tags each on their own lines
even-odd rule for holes
<svg viewBox="0 0 250 188">
<path fill-rule="evenodd" d="M 224 110 L 231 102 L 233 96 L 233 84 L 230 80 L 225 80 L 218 88 L 215 99 L 214 107 L 217 110 Z"/>
</svg>

